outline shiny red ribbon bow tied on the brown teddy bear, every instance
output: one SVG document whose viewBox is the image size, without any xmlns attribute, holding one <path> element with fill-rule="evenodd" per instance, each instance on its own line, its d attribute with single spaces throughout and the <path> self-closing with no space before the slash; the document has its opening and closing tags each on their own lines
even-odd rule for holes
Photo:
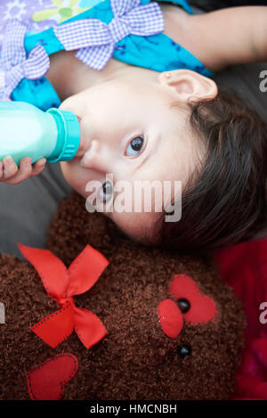
<svg viewBox="0 0 267 418">
<path fill-rule="evenodd" d="M 96 283 L 109 261 L 90 245 L 75 258 L 69 268 L 50 250 L 41 250 L 18 243 L 21 253 L 36 268 L 48 295 L 59 302 L 61 309 L 30 329 L 55 348 L 75 330 L 86 348 L 107 335 L 106 328 L 93 312 L 76 307 L 73 296 L 85 293 Z"/>
</svg>

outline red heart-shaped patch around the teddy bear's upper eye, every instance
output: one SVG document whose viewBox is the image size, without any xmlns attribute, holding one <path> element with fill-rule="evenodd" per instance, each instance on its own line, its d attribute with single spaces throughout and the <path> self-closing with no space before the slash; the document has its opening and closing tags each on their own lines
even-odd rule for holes
<svg viewBox="0 0 267 418">
<path fill-rule="evenodd" d="M 173 294 L 176 300 L 189 300 L 190 310 L 183 313 L 186 323 L 198 325 L 214 320 L 217 314 L 214 299 L 201 293 L 198 283 L 189 275 L 174 275 L 169 293 Z"/>
</svg>

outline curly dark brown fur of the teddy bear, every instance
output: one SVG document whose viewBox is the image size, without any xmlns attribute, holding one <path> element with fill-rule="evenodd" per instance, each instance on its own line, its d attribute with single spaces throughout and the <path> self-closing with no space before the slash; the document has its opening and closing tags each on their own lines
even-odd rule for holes
<svg viewBox="0 0 267 418">
<path fill-rule="evenodd" d="M 71 193 L 61 201 L 47 236 L 47 248 L 66 266 L 89 243 L 109 259 L 93 288 L 75 297 L 77 307 L 92 310 L 108 335 L 87 350 L 75 332 L 49 348 L 30 326 L 57 306 L 27 261 L 0 258 L 0 294 L 6 324 L 0 333 L 0 398 L 28 399 L 25 373 L 62 352 L 79 363 L 65 399 L 226 399 L 243 345 L 244 316 L 239 299 L 220 281 L 213 261 L 142 247 L 117 234 L 101 214 L 88 214 L 85 201 Z M 168 295 L 174 274 L 187 274 L 212 297 L 219 315 L 214 322 L 183 326 L 171 339 L 162 331 L 157 307 Z M 180 357 L 181 344 L 191 355 Z"/>
</svg>

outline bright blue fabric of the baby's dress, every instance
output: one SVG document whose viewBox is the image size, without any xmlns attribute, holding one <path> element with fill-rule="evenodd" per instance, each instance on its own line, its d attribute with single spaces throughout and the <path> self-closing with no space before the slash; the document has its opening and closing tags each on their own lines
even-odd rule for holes
<svg viewBox="0 0 267 418">
<path fill-rule="evenodd" d="M 94 18 L 109 24 L 114 17 L 110 7 L 110 0 L 93 1 L 95 5 L 91 9 L 81 12 L 69 20 L 65 20 L 64 23 L 78 19 Z M 149 3 L 150 0 L 141 0 L 141 4 Z M 173 0 L 172 3 L 181 6 L 186 12 L 192 14 L 187 0 Z M 48 55 L 64 50 L 64 46 L 54 35 L 52 27 L 42 32 L 28 31 L 26 33 L 24 47 L 27 54 L 38 43 L 44 46 Z M 155 71 L 188 69 L 197 71 L 206 77 L 213 76 L 213 73 L 207 70 L 198 58 L 163 33 L 148 37 L 128 35 L 117 42 L 113 57 L 118 61 Z M 36 80 L 23 78 L 12 91 L 11 99 L 32 103 L 43 111 L 51 107 L 59 107 L 61 104 L 58 94 L 50 81 L 45 77 Z"/>
</svg>

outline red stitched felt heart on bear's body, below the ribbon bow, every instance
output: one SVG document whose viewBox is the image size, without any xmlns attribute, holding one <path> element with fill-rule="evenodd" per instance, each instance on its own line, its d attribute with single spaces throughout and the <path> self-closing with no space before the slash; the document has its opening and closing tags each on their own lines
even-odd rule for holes
<svg viewBox="0 0 267 418">
<path fill-rule="evenodd" d="M 59 400 L 63 398 L 66 384 L 78 369 L 77 357 L 61 353 L 48 358 L 27 373 L 28 393 L 33 400 Z"/>
</svg>

